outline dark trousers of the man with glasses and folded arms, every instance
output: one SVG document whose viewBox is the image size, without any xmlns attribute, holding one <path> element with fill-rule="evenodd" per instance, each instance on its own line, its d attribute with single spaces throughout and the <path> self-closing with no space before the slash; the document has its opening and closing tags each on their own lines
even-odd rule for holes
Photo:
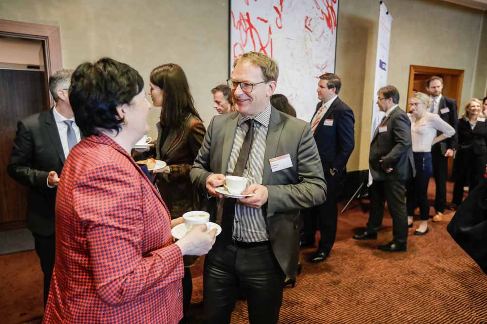
<svg viewBox="0 0 487 324">
<path fill-rule="evenodd" d="M 367 231 L 376 233 L 382 227 L 384 203 L 393 219 L 393 242 L 406 245 L 408 240 L 408 216 L 406 214 L 406 181 L 375 181 L 369 187 L 370 211 Z"/>
</svg>

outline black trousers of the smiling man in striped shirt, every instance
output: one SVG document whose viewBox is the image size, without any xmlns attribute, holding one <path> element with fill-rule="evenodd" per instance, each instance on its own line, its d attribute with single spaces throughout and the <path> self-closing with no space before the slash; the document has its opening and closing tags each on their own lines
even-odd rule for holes
<svg viewBox="0 0 487 324">
<path fill-rule="evenodd" d="M 247 297 L 250 324 L 277 323 L 284 278 L 270 243 L 239 247 L 217 239 L 205 258 L 205 323 L 230 323 L 239 290 Z"/>
</svg>

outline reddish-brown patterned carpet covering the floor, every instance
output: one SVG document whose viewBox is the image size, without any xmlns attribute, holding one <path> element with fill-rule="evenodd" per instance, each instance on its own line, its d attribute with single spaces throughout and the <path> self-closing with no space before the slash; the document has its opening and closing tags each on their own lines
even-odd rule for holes
<svg viewBox="0 0 487 324">
<path fill-rule="evenodd" d="M 449 184 L 449 200 L 451 189 Z M 433 181 L 429 191 L 434 192 Z M 280 323 L 487 323 L 487 276 L 446 232 L 452 215 L 430 222 L 425 236 L 412 235 L 414 226 L 408 251 L 391 254 L 376 249 L 392 239 L 389 216 L 376 241 L 352 239 L 367 222 L 355 203 L 339 215 L 337 242 L 326 261 L 311 264 L 307 259 L 313 249 L 301 251 L 303 271 L 296 287 L 284 290 Z M 0 267 L 1 322 L 21 323 L 41 315 L 35 253 L 1 256 Z M 191 323 L 201 323 L 201 261 L 192 270 Z M 231 323 L 248 323 L 245 302 L 237 303 Z"/>
</svg>

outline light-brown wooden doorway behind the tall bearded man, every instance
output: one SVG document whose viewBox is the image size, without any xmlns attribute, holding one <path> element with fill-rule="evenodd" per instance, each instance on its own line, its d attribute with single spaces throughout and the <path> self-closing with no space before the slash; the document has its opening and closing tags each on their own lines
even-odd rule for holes
<svg viewBox="0 0 487 324">
<path fill-rule="evenodd" d="M 439 76 L 443 79 L 443 92 L 446 97 L 453 98 L 457 102 L 457 114 L 461 116 L 464 113 L 462 107 L 460 107 L 460 99 L 462 97 L 462 85 L 463 85 L 464 70 L 458 70 L 453 68 L 435 68 L 425 67 L 419 65 L 412 65 L 409 71 L 409 89 L 408 89 L 408 104 L 406 105 L 406 111 L 409 112 L 409 99 L 412 96 L 412 91 L 419 92 L 426 91 L 426 81 L 433 75 Z M 448 159 L 448 179 L 452 180 L 453 174 L 453 158 Z"/>
</svg>

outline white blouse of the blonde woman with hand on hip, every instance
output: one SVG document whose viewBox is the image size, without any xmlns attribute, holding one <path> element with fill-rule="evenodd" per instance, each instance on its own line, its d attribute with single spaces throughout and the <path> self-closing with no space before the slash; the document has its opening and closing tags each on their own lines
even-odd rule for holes
<svg viewBox="0 0 487 324">
<path fill-rule="evenodd" d="M 411 120 L 412 152 L 431 152 L 431 143 L 436 137 L 436 131 L 442 132 L 447 137 L 455 134 L 455 129 L 441 119 L 440 115 L 427 112 L 418 125 L 415 125 L 414 115 L 408 114 L 408 117 Z"/>
</svg>

